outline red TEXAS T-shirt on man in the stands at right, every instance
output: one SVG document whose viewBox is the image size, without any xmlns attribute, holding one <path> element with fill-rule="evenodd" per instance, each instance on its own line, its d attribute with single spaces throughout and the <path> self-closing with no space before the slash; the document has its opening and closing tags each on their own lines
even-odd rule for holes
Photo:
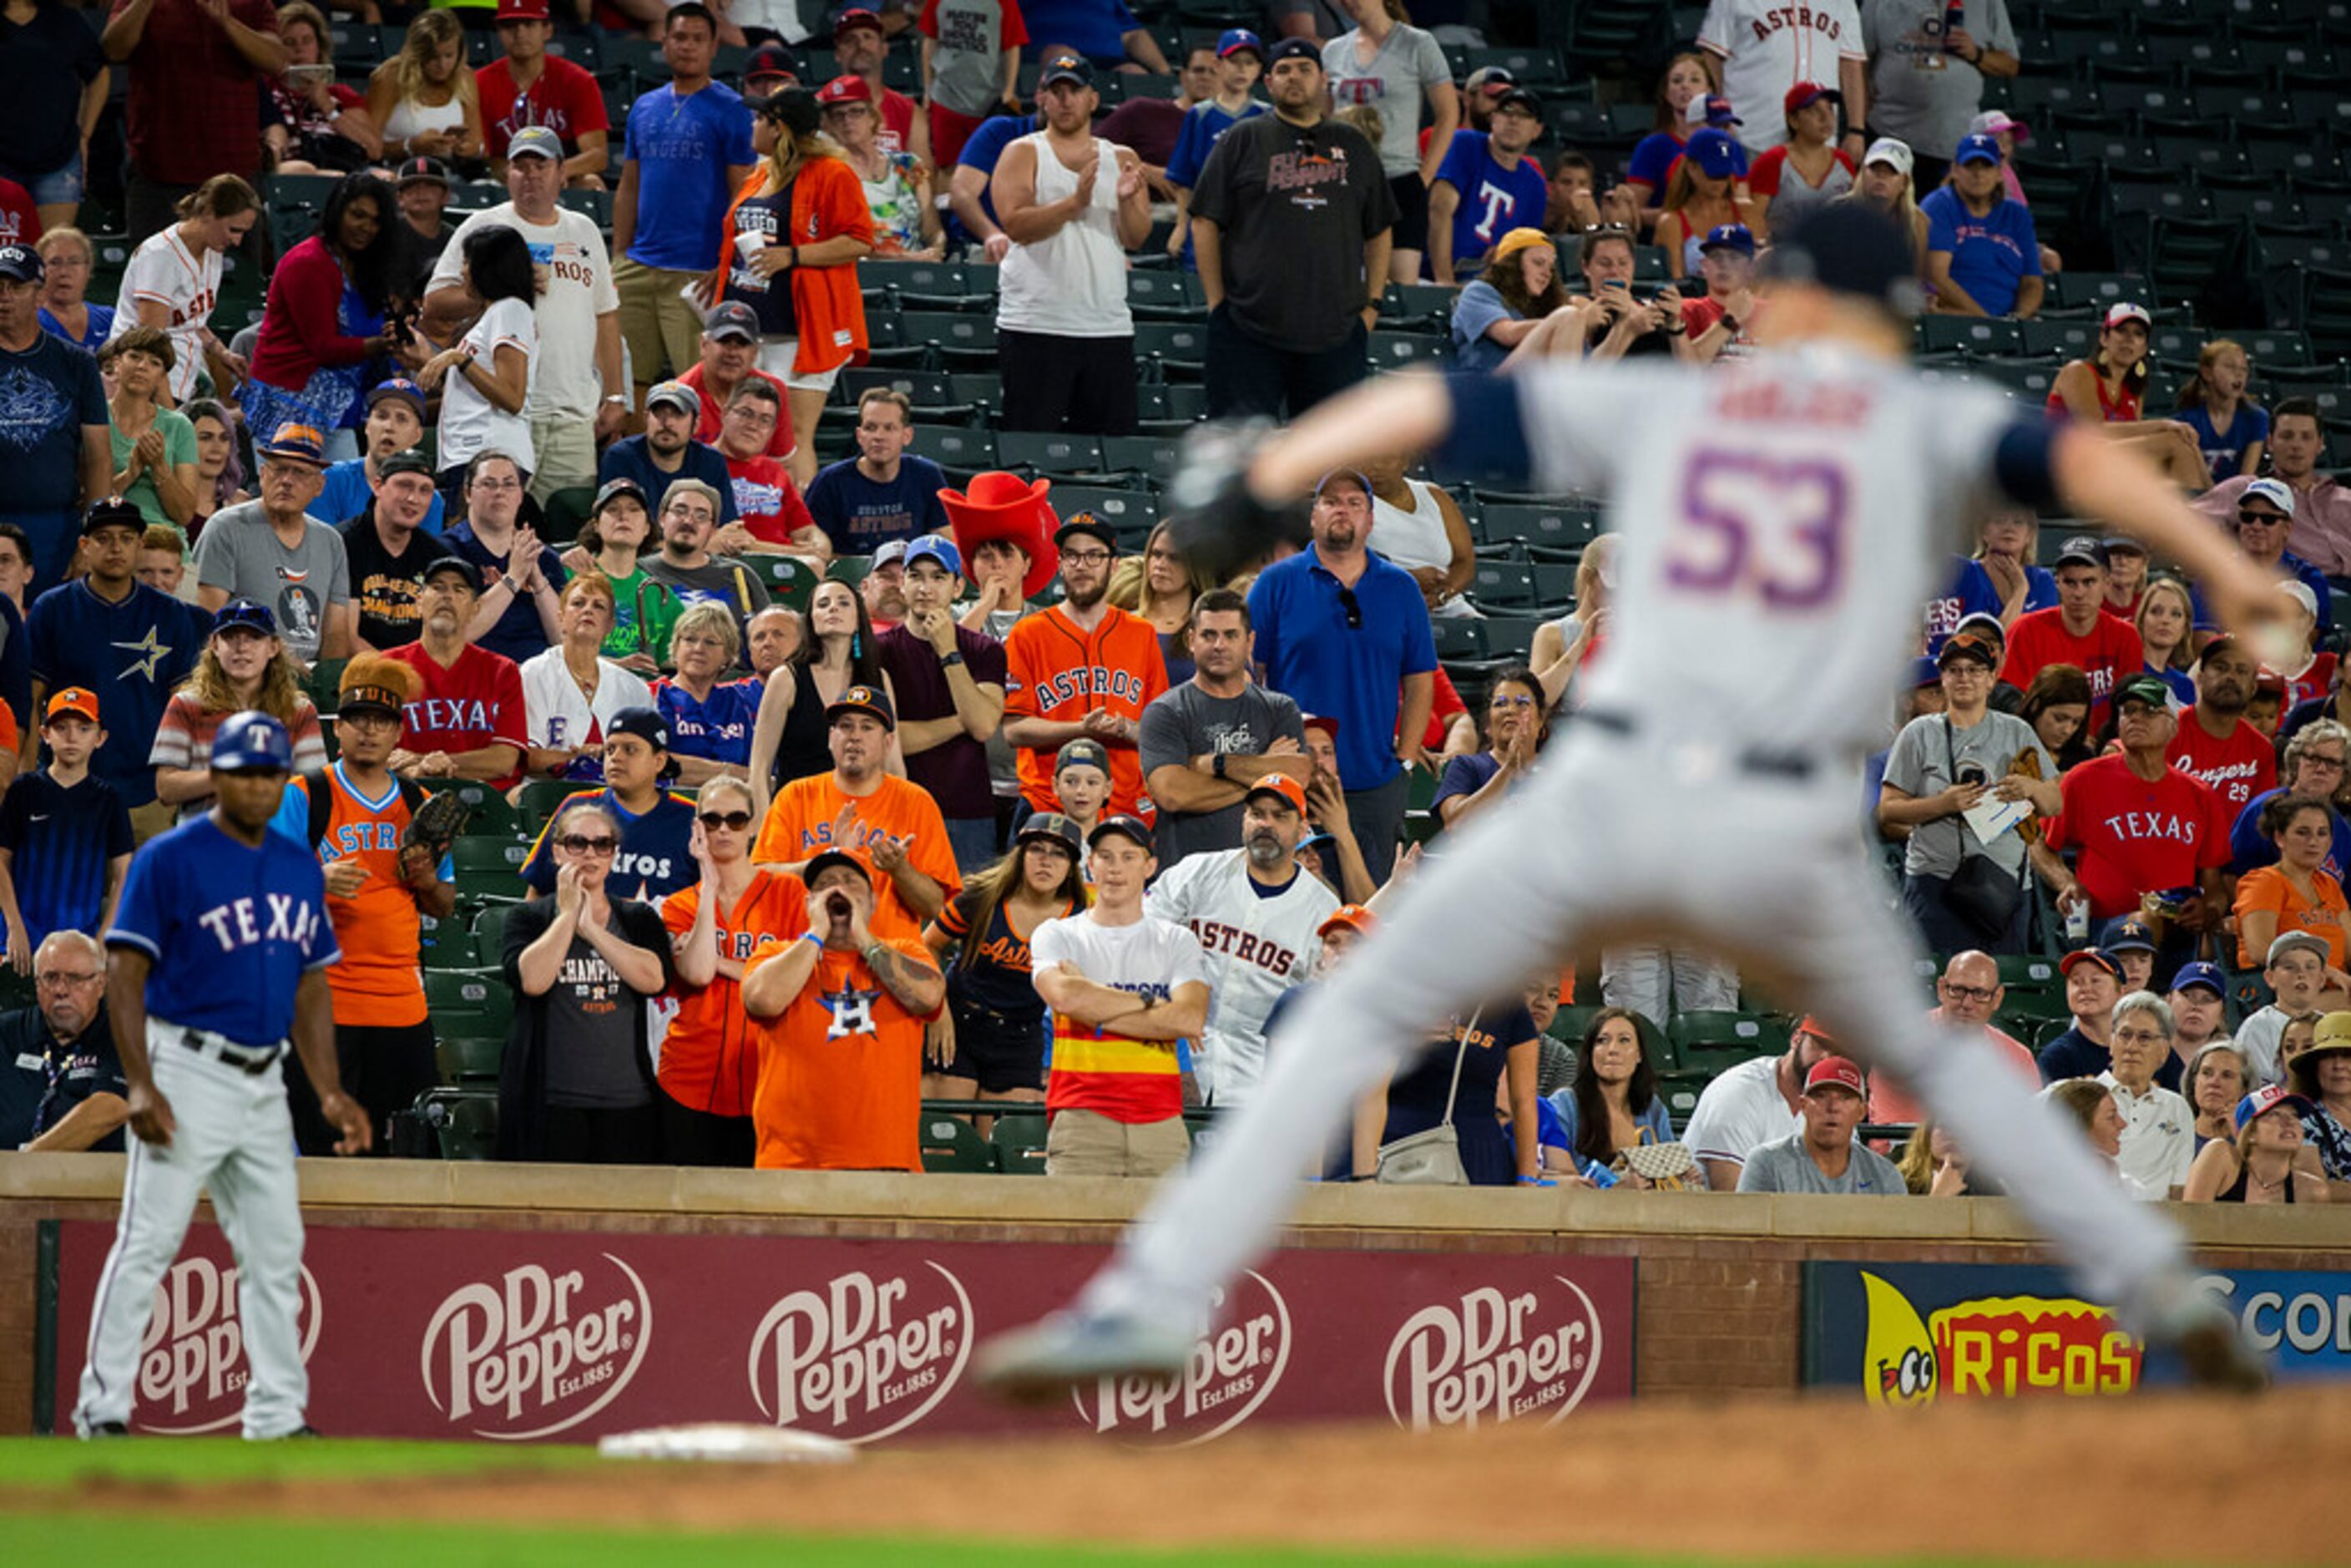
<svg viewBox="0 0 2351 1568">
<path fill-rule="evenodd" d="M 2142 893 L 2193 886 L 2229 863 L 2229 813 L 2219 797 L 2175 769 L 2139 778 L 2121 757 L 2092 757 L 2064 776 L 2064 806 L 2045 823 L 2048 846 L 2078 849 L 2074 872 L 2092 919 L 2137 914 Z"/>
</svg>

